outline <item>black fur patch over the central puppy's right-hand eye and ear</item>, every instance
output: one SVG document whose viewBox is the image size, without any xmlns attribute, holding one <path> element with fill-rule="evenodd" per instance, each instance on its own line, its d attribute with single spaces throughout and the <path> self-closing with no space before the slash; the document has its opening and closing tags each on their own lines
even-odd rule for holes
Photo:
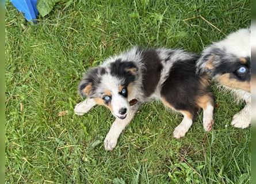
<svg viewBox="0 0 256 184">
<path fill-rule="evenodd" d="M 129 83 L 135 81 L 135 75 L 131 72 L 127 71 L 127 69 L 136 68 L 138 70 L 135 63 L 130 61 L 121 61 L 121 59 L 117 59 L 115 62 L 110 64 L 110 74 L 113 76 L 117 76 L 119 78 L 124 79 L 123 86 L 128 86 Z"/>
</svg>

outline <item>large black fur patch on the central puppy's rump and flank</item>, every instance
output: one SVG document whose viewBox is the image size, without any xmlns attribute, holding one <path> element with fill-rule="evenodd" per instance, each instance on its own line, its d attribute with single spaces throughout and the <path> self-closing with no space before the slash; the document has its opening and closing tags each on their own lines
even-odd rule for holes
<svg viewBox="0 0 256 184">
<path fill-rule="evenodd" d="M 195 114 L 199 107 L 196 98 L 206 91 L 200 90 L 200 76 L 196 75 L 195 55 L 191 60 L 178 60 L 170 69 L 162 85 L 161 96 L 177 110 L 188 110 Z"/>
</svg>

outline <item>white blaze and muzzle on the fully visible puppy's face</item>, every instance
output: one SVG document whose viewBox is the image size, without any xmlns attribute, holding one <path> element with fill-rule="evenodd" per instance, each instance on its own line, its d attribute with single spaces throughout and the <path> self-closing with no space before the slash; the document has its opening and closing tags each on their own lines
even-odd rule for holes
<svg viewBox="0 0 256 184">
<path fill-rule="evenodd" d="M 129 111 L 129 103 L 127 98 L 119 94 L 119 85 L 121 84 L 121 79 L 107 74 L 102 76 L 101 83 L 102 87 L 110 90 L 112 95 L 110 106 L 112 107 L 113 115 L 116 117 L 124 117 Z M 122 113 L 122 110 L 124 109 L 126 109 L 126 112 Z"/>
</svg>

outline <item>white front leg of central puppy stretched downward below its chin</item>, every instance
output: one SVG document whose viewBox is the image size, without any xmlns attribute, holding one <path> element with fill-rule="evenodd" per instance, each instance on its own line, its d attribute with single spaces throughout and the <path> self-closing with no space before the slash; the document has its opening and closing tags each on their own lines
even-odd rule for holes
<svg viewBox="0 0 256 184">
<path fill-rule="evenodd" d="M 129 110 L 127 117 L 124 120 L 120 120 L 119 118 L 116 118 L 116 120 L 114 120 L 104 140 L 105 150 L 113 150 L 113 148 L 116 147 L 117 139 L 119 138 L 124 128 L 129 124 L 129 122 L 132 121 L 136 112 L 137 107 L 133 106 L 132 109 Z"/>
</svg>

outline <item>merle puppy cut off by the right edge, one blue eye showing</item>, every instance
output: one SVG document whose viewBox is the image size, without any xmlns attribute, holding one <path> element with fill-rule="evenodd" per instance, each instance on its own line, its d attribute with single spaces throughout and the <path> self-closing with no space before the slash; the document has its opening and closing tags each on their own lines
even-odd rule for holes
<svg viewBox="0 0 256 184">
<path fill-rule="evenodd" d="M 208 74 L 220 86 L 235 94 L 246 106 L 231 122 L 234 127 L 246 128 L 251 120 L 251 49 L 250 29 L 239 29 L 224 40 L 209 45 L 197 63 L 197 72 Z"/>
</svg>

